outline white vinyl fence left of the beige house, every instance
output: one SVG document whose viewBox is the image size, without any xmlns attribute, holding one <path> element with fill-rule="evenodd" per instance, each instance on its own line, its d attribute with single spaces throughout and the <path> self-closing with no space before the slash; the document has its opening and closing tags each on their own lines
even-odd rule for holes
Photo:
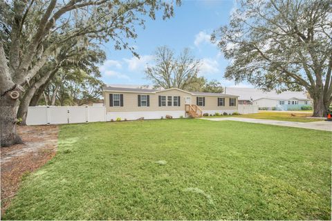
<svg viewBox="0 0 332 221">
<path fill-rule="evenodd" d="M 29 106 L 26 124 L 74 124 L 106 121 L 104 106 Z"/>
</svg>

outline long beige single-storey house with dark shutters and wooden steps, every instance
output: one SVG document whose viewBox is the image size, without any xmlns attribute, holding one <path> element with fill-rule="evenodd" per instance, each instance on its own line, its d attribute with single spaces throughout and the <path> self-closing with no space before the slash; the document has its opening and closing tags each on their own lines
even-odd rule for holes
<svg viewBox="0 0 332 221">
<path fill-rule="evenodd" d="M 159 119 L 171 115 L 198 117 L 204 113 L 237 112 L 236 95 L 223 93 L 193 93 L 178 88 L 154 90 L 144 88 L 103 88 L 107 120 Z"/>
</svg>

